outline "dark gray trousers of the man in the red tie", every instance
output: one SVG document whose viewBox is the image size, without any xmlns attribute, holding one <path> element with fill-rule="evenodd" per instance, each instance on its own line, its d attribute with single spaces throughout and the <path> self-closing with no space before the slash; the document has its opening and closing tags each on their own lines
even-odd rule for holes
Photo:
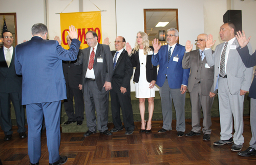
<svg viewBox="0 0 256 165">
<path fill-rule="evenodd" d="M 108 129 L 109 95 L 109 91 L 105 91 L 103 87 L 99 91 L 95 80 L 88 79 L 84 82 L 83 99 L 86 108 L 86 121 L 87 127 L 92 132 L 96 132 L 97 129 L 100 132 L 104 132 Z"/>
</svg>

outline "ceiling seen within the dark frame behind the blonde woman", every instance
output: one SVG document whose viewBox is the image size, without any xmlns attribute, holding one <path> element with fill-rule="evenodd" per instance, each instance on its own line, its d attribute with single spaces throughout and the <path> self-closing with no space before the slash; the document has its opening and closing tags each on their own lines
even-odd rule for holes
<svg viewBox="0 0 256 165">
<path fill-rule="evenodd" d="M 158 22 L 169 22 L 165 27 L 155 27 Z M 167 34 L 167 29 L 176 28 L 176 11 L 146 11 L 146 33 L 148 35 L 148 39 L 150 40 L 150 45 L 152 45 L 152 41 L 157 38 L 158 39 L 158 31 L 165 30 L 165 34 Z M 165 41 L 161 41 L 161 43 L 166 43 Z"/>
</svg>

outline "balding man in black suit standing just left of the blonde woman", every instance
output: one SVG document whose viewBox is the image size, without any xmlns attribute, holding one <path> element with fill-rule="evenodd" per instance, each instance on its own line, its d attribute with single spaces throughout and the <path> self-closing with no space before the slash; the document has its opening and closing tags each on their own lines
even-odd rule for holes
<svg viewBox="0 0 256 165">
<path fill-rule="evenodd" d="M 133 75 L 133 65 L 124 49 L 125 39 L 118 36 L 115 40 L 116 51 L 111 51 L 113 56 L 113 79 L 111 96 L 111 112 L 114 128 L 111 132 L 123 129 L 120 118 L 120 107 L 122 109 L 124 134 L 132 134 L 134 131 L 133 108 L 131 104 L 131 85 L 130 80 Z"/>
</svg>

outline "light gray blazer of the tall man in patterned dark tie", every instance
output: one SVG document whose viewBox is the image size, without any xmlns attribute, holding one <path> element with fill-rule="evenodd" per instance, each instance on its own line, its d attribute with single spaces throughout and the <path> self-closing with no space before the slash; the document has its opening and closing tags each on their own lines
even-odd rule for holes
<svg viewBox="0 0 256 165">
<path fill-rule="evenodd" d="M 214 73 L 214 88 L 217 85 L 217 79 L 220 68 L 221 53 L 224 46 L 221 43 L 216 46 L 215 52 L 212 53 L 211 48 L 204 50 L 204 54 L 209 66 L 215 65 Z M 232 45 L 239 47 L 237 39 L 234 40 Z M 252 53 L 251 45 L 248 45 L 250 54 Z M 237 49 L 230 49 L 227 59 L 226 73 L 227 73 L 227 84 L 231 95 L 237 95 L 241 90 L 249 91 L 251 85 L 253 68 L 246 68 Z"/>
</svg>

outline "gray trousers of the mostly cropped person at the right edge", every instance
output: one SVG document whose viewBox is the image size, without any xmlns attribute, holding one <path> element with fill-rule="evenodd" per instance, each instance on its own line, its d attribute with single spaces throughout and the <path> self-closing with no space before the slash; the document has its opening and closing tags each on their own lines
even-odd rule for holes
<svg viewBox="0 0 256 165">
<path fill-rule="evenodd" d="M 251 98 L 250 123 L 252 135 L 250 147 L 256 149 L 256 99 L 253 98 Z"/>
</svg>

